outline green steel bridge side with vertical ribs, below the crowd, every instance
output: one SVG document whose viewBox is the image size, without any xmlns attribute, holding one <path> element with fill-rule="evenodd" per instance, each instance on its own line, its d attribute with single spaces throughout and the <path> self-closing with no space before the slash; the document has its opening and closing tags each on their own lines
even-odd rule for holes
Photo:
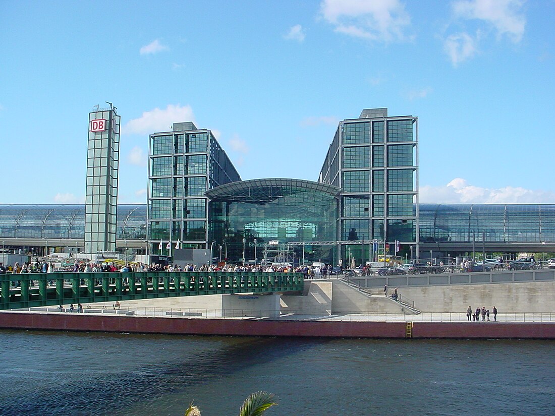
<svg viewBox="0 0 555 416">
<path fill-rule="evenodd" d="M 302 291 L 302 273 L 0 274 L 0 310 L 175 296 Z"/>
</svg>

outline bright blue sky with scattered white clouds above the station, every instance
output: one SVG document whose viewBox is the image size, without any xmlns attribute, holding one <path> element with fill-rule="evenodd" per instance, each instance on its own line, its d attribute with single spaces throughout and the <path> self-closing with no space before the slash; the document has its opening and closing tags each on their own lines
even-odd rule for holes
<svg viewBox="0 0 555 416">
<path fill-rule="evenodd" d="M 555 0 L 0 0 L 0 203 L 83 203 L 88 113 L 194 121 L 241 179 L 317 180 L 340 120 L 415 115 L 420 202 L 555 204 Z"/>
</svg>

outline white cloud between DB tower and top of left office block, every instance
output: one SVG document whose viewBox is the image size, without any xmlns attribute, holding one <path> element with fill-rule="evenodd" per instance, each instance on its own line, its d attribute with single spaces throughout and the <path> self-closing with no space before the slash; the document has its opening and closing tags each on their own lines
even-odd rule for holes
<svg viewBox="0 0 555 416">
<path fill-rule="evenodd" d="M 193 109 L 190 105 L 180 106 L 169 104 L 164 110 L 155 108 L 145 111 L 137 119 L 129 120 L 123 126 L 122 134 L 149 134 L 156 131 L 168 131 L 172 123 L 195 121 Z"/>
</svg>

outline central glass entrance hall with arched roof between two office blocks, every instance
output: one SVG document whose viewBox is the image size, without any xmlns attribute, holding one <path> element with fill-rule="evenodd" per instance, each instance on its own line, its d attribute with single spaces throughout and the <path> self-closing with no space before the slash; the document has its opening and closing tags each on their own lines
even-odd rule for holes
<svg viewBox="0 0 555 416">
<path fill-rule="evenodd" d="M 206 192 L 210 241 L 223 244 L 232 260 L 243 258 L 244 249 L 247 260 L 281 253 L 284 261 L 304 257 L 331 263 L 333 246 L 319 242 L 336 241 L 340 191 L 300 179 L 255 179 L 216 187 Z"/>
</svg>

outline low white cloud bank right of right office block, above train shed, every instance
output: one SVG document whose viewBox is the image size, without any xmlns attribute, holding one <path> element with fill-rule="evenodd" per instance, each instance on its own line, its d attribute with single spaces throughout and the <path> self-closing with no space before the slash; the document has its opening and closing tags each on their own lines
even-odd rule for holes
<svg viewBox="0 0 555 416">
<path fill-rule="evenodd" d="M 457 177 L 445 186 L 421 186 L 420 202 L 446 204 L 554 204 L 555 192 L 505 186 L 485 188 Z"/>
</svg>

